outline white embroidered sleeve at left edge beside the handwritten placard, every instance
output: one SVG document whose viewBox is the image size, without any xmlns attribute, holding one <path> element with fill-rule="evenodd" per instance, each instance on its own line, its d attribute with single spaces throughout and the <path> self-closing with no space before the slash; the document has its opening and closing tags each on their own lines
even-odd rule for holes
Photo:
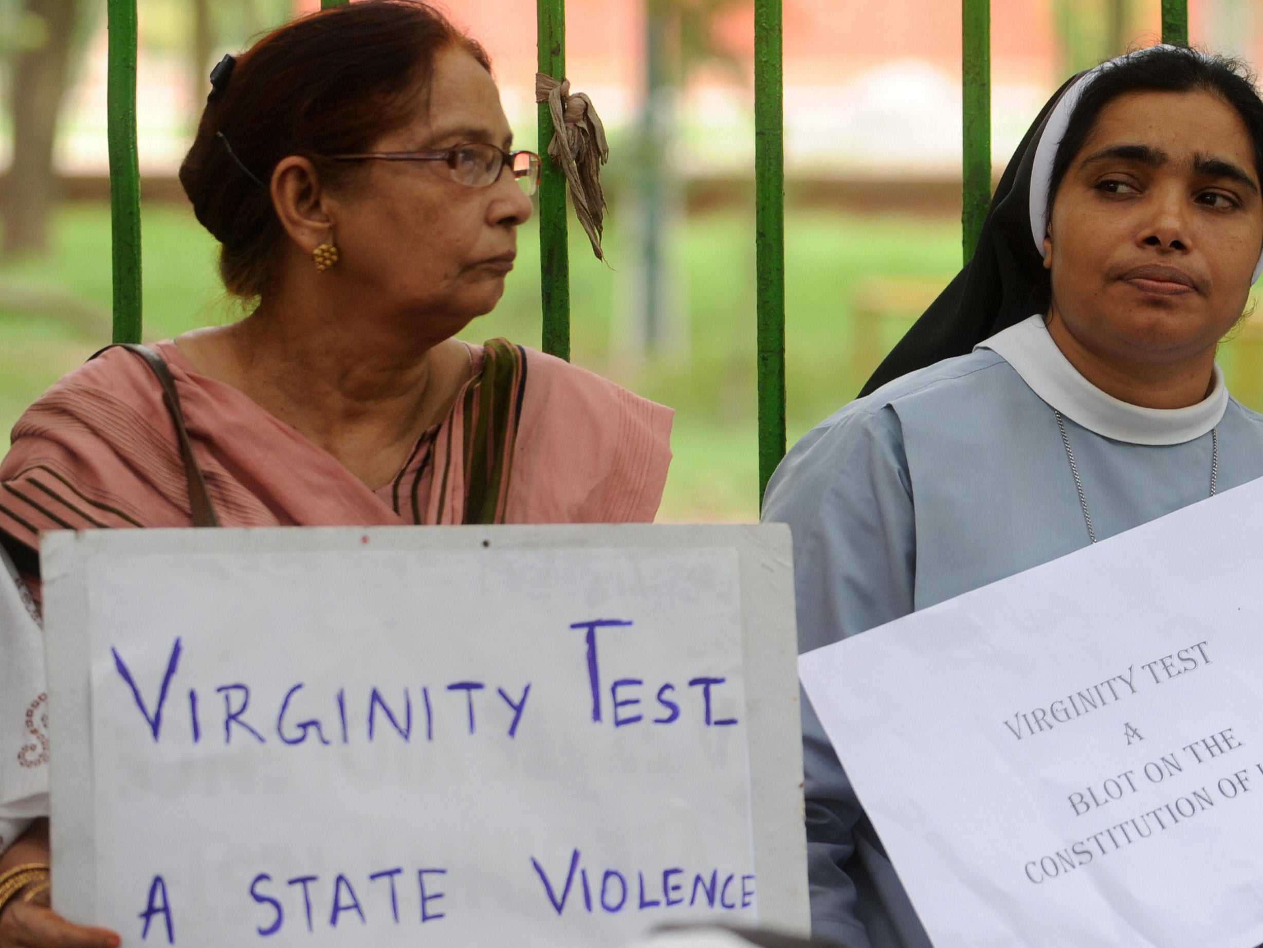
<svg viewBox="0 0 1263 948">
<path fill-rule="evenodd" d="M 44 634 L 25 583 L 0 545 L 0 853 L 48 815 Z"/>
</svg>

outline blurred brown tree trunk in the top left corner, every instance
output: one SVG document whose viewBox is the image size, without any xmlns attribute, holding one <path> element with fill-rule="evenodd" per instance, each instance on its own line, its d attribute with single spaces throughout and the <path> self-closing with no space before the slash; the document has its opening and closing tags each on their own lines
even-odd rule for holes
<svg viewBox="0 0 1263 948">
<path fill-rule="evenodd" d="M 13 66 L 13 164 L 5 183 L 5 256 L 48 249 L 56 199 L 53 141 L 69 78 L 75 23 L 82 0 L 25 0 L 20 49 Z"/>
</svg>

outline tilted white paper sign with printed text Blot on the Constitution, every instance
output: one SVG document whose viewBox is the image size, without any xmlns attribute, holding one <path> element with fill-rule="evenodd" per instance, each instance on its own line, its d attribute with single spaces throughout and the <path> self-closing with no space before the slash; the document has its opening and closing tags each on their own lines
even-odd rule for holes
<svg viewBox="0 0 1263 948">
<path fill-rule="evenodd" d="M 937 948 L 1263 942 L 1263 481 L 803 655 Z"/>
</svg>

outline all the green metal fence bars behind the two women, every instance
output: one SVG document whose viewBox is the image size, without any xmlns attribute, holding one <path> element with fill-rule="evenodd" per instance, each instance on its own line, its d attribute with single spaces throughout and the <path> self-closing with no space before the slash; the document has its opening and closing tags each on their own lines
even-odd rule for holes
<svg viewBox="0 0 1263 948">
<path fill-rule="evenodd" d="M 347 0 L 321 0 L 322 9 Z M 786 453 L 784 121 L 782 0 L 754 0 L 755 318 L 759 497 Z M 109 138 L 114 341 L 139 342 L 140 172 L 136 157 L 136 0 L 107 0 Z M 536 0 L 539 72 L 566 76 L 566 0 Z M 1188 1 L 1162 0 L 1162 42 L 1188 42 Z M 974 252 L 991 194 L 990 0 L 961 0 L 961 247 Z M 539 263 L 543 348 L 570 358 L 566 179 L 548 155 L 548 105 L 539 106 Z"/>
</svg>

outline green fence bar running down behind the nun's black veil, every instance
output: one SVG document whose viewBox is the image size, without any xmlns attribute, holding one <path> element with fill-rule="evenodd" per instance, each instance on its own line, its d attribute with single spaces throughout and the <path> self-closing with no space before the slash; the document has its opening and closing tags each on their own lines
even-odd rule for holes
<svg viewBox="0 0 1263 948">
<path fill-rule="evenodd" d="M 991 4 L 961 0 L 960 235 L 965 263 L 974 256 L 991 203 Z"/>
</svg>

